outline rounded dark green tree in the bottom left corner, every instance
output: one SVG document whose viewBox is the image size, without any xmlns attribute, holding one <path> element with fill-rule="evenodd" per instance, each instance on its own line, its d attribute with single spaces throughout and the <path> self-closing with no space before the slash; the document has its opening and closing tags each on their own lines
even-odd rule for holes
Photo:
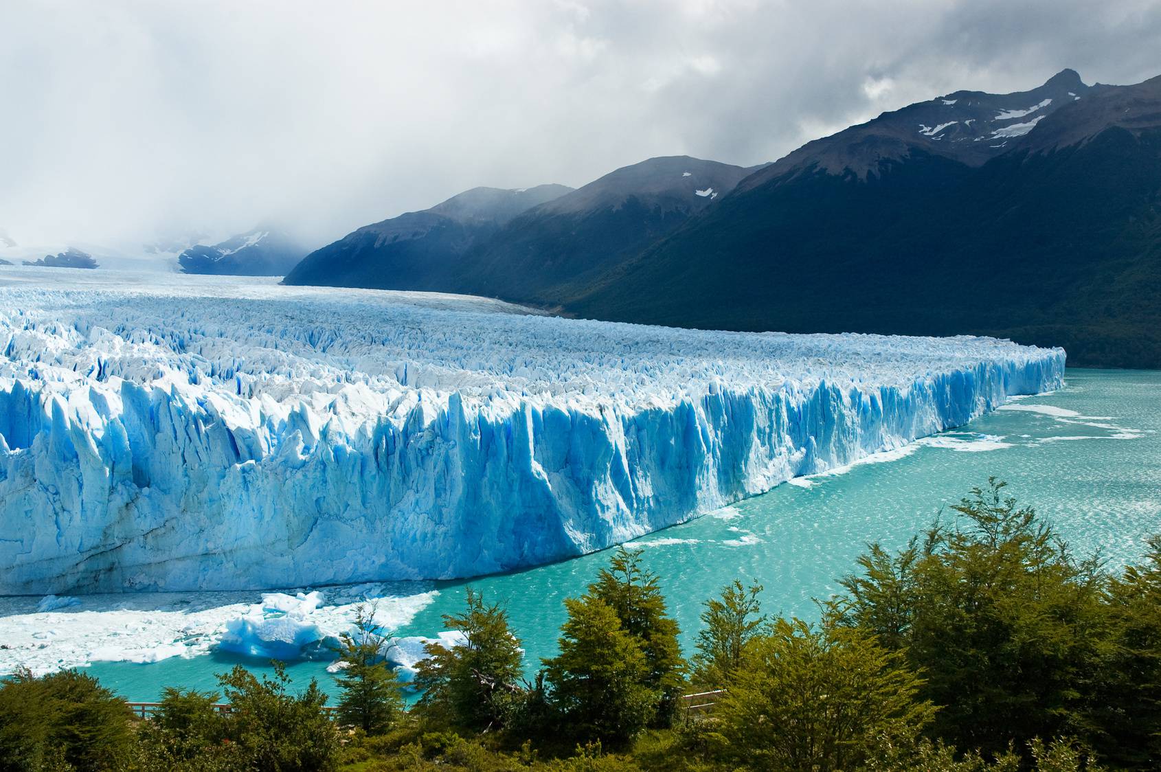
<svg viewBox="0 0 1161 772">
<path fill-rule="evenodd" d="M 131 720 L 124 700 L 92 676 L 19 670 L 0 685 L 0 770 L 115 769 L 131 755 Z"/>
</svg>

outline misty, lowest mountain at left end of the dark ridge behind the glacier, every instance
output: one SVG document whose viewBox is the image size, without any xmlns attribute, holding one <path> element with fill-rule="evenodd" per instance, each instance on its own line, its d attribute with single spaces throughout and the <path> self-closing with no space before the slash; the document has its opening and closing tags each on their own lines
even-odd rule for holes
<svg viewBox="0 0 1161 772">
<path fill-rule="evenodd" d="M 460 258 L 520 212 L 572 188 L 473 188 L 447 201 L 366 225 L 316 250 L 286 284 L 452 291 Z"/>
</svg>

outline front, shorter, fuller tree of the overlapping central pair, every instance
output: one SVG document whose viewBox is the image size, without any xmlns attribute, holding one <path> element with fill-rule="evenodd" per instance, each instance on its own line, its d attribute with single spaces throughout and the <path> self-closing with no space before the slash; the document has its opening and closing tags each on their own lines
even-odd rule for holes
<svg viewBox="0 0 1161 772">
<path fill-rule="evenodd" d="M 564 606 L 569 616 L 561 627 L 561 652 L 543 661 L 560 726 L 579 739 L 627 743 L 657 713 L 649 661 L 601 598 L 568 598 Z"/>
</svg>

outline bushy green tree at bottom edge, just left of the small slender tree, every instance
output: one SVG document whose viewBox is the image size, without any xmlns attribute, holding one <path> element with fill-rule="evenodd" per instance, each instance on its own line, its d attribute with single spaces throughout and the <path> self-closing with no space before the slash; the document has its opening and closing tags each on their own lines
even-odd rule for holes
<svg viewBox="0 0 1161 772">
<path fill-rule="evenodd" d="M 274 662 L 274 678 L 261 680 L 241 665 L 218 676 L 230 704 L 229 739 L 237 743 L 246 766 L 264 772 L 334 770 L 339 733 L 323 707 L 326 694 L 311 679 L 301 693 L 289 691 L 290 678 Z"/>
</svg>

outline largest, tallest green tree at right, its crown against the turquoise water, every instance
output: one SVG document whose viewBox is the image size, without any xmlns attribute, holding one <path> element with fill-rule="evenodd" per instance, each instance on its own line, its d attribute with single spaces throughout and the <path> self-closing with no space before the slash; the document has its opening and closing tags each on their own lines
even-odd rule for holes
<svg viewBox="0 0 1161 772">
<path fill-rule="evenodd" d="M 994 478 L 922 544 L 878 547 L 846 577 L 844 619 L 906 651 L 942 706 L 932 733 L 1000 753 L 1083 728 L 1082 694 L 1104 656 L 1103 577 L 1077 562 Z"/>
</svg>

